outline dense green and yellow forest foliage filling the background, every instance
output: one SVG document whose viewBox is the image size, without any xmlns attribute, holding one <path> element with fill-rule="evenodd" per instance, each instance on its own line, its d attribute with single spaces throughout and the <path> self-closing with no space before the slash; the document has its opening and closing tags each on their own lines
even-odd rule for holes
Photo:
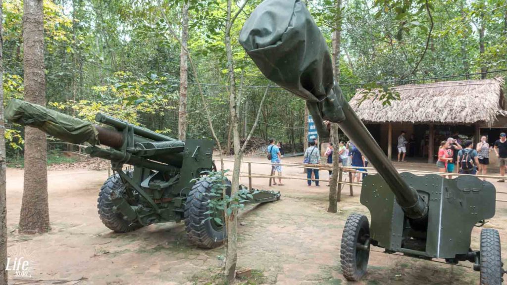
<svg viewBox="0 0 507 285">
<path fill-rule="evenodd" d="M 246 1 L 246 3 L 245 3 Z M 259 0 L 233 2 L 231 43 L 239 114 L 245 137 L 276 137 L 301 149 L 304 102 L 269 84 L 238 43 L 239 31 Z M 356 88 L 505 76 L 507 6 L 504 0 L 308 0 L 332 47 L 340 31 L 339 82 L 347 99 Z M 46 101 L 49 108 L 86 120 L 100 111 L 172 137 L 178 135 L 182 6 L 178 0 L 45 0 Z M 338 5 L 339 4 L 339 5 Z M 5 0 L 4 92 L 23 98 L 21 0 Z M 244 8 L 242 10 L 241 7 Z M 221 141 L 230 140 L 227 1 L 191 0 L 188 50 Z M 189 65 L 187 137 L 211 138 Z M 481 74 L 478 74 L 481 73 Z M 442 78 L 446 76 L 467 75 Z M 414 79 L 430 78 L 412 81 Z M 387 83 L 382 83 L 387 82 Z M 8 154 L 22 151 L 23 129 L 7 125 Z"/>
</svg>

